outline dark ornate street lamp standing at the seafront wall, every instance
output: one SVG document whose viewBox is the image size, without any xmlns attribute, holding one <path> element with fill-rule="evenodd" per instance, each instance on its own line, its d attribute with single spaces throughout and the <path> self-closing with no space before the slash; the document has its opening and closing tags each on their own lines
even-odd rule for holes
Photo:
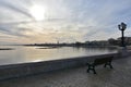
<svg viewBox="0 0 131 87">
<path fill-rule="evenodd" d="M 123 32 L 126 30 L 126 28 L 127 28 L 127 24 L 124 24 L 124 23 L 121 23 L 121 24 L 119 24 L 118 25 L 118 28 L 119 28 L 119 30 L 121 30 L 121 47 L 126 47 L 126 45 L 124 45 L 124 36 L 123 36 Z"/>
</svg>

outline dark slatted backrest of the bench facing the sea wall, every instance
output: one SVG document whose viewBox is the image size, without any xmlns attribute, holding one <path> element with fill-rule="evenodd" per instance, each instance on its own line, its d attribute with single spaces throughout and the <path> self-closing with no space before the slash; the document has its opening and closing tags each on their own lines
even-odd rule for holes
<svg viewBox="0 0 131 87">
<path fill-rule="evenodd" d="M 94 65 L 99 65 L 99 64 L 104 64 L 104 63 L 107 63 L 107 62 L 111 62 L 114 57 L 106 57 L 106 58 L 102 58 L 102 59 L 95 59 L 94 61 Z"/>
</svg>

